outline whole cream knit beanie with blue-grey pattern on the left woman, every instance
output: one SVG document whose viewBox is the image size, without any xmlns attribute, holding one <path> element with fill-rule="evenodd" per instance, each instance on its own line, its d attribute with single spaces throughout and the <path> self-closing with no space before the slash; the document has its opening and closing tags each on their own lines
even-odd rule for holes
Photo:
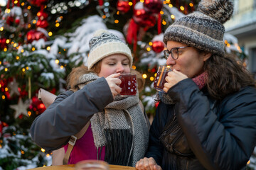
<svg viewBox="0 0 256 170">
<path fill-rule="evenodd" d="M 132 67 L 132 53 L 129 47 L 117 35 L 107 30 L 96 30 L 89 46 L 90 52 L 87 60 L 89 70 L 104 57 L 113 54 L 126 55 L 129 59 L 129 65 Z"/>
</svg>

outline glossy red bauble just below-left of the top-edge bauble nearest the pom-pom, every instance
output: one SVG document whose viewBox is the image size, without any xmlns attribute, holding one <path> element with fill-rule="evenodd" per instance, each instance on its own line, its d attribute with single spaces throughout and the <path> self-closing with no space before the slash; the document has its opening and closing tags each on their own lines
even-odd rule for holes
<svg viewBox="0 0 256 170">
<path fill-rule="evenodd" d="M 156 18 L 146 13 L 144 8 L 134 10 L 134 21 L 142 27 L 152 27 L 156 23 Z"/>
</svg>

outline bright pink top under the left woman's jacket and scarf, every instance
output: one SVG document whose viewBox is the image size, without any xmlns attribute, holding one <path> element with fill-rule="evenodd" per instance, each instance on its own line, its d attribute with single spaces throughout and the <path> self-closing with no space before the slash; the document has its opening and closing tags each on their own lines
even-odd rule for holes
<svg viewBox="0 0 256 170">
<path fill-rule="evenodd" d="M 68 144 L 64 146 L 65 152 L 67 152 Z M 100 160 L 104 160 L 105 158 L 105 147 L 102 147 L 102 153 L 100 157 L 100 148 L 98 148 L 98 157 Z M 70 159 L 68 160 L 68 164 L 76 164 L 82 160 L 87 159 L 96 159 L 97 160 L 97 148 L 95 147 L 93 136 L 92 136 L 92 128 L 89 125 L 89 128 L 85 132 L 80 140 L 75 142 L 75 146 L 70 154 Z"/>
</svg>

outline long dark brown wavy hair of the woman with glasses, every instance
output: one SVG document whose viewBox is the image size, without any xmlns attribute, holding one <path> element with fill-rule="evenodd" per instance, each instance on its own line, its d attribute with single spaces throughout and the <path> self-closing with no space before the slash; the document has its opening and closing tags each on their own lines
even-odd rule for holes
<svg viewBox="0 0 256 170">
<path fill-rule="evenodd" d="M 210 96 L 221 100 L 245 86 L 255 86 L 252 75 L 230 55 L 212 55 L 204 65 Z"/>
</svg>

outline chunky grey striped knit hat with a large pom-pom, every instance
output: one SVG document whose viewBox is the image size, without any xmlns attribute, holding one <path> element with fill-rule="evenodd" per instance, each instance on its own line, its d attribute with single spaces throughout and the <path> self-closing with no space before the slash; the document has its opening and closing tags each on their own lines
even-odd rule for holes
<svg viewBox="0 0 256 170">
<path fill-rule="evenodd" d="M 173 40 L 199 50 L 223 56 L 223 23 L 233 14 L 229 0 L 202 0 L 198 10 L 179 18 L 164 33 L 164 42 Z"/>
</svg>

